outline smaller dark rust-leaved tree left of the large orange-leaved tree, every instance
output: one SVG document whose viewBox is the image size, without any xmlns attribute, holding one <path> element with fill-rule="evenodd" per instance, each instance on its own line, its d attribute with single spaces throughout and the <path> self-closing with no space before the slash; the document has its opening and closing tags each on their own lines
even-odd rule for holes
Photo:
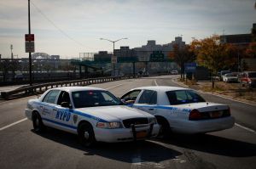
<svg viewBox="0 0 256 169">
<path fill-rule="evenodd" d="M 184 79 L 184 64 L 187 62 L 192 62 L 195 60 L 194 51 L 191 50 L 189 45 L 179 46 L 177 44 L 173 45 L 173 53 L 170 54 L 170 57 L 176 60 L 177 65 L 181 68 L 181 78 Z"/>
</svg>

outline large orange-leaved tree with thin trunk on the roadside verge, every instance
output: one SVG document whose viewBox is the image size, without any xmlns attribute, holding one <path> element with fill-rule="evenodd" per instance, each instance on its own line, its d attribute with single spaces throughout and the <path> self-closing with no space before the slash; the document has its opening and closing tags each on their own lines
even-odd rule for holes
<svg viewBox="0 0 256 169">
<path fill-rule="evenodd" d="M 191 48 L 197 55 L 197 63 L 211 70 L 212 76 L 217 75 L 218 70 L 229 69 L 237 63 L 236 47 L 228 43 L 221 43 L 218 35 L 194 40 L 191 43 Z M 214 80 L 212 78 L 213 87 Z"/>
</svg>

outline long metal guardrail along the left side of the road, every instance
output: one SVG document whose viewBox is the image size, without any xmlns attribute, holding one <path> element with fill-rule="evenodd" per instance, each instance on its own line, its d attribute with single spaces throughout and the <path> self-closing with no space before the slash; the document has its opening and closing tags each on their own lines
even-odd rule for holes
<svg viewBox="0 0 256 169">
<path fill-rule="evenodd" d="M 90 84 L 98 84 L 103 82 L 113 82 L 131 78 L 139 78 L 141 76 L 109 76 L 109 77 L 100 77 L 100 78 L 89 78 L 81 79 L 74 81 L 63 81 L 63 82 L 49 82 L 44 84 L 33 85 L 29 87 L 20 87 L 13 91 L 1 92 L 1 99 L 12 99 L 22 96 L 28 96 L 35 93 L 43 93 L 49 88 L 55 87 L 72 87 L 72 86 L 87 86 Z"/>
</svg>

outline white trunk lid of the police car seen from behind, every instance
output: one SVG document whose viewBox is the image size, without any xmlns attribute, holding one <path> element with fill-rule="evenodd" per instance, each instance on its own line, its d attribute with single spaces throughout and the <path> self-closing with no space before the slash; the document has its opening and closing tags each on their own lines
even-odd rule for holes
<svg viewBox="0 0 256 169">
<path fill-rule="evenodd" d="M 196 109 L 196 110 L 199 110 L 201 112 L 229 109 L 229 106 L 226 105 L 226 104 L 216 104 L 216 103 L 211 103 L 211 102 L 179 104 L 179 105 L 175 105 L 174 107 L 177 107 L 179 109 L 183 109 L 183 110 L 186 110 L 186 111 L 191 111 L 191 110 Z"/>
</svg>

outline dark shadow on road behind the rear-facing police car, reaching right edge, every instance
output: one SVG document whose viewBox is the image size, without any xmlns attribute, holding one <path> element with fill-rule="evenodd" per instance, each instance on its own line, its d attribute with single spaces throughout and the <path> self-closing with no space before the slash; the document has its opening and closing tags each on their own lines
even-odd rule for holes
<svg viewBox="0 0 256 169">
<path fill-rule="evenodd" d="M 157 139 L 157 141 L 215 155 L 225 155 L 230 157 L 249 157 L 256 155 L 256 144 L 250 144 L 230 138 L 221 138 L 210 134 L 172 134 L 172 138 L 166 140 Z"/>
</svg>

